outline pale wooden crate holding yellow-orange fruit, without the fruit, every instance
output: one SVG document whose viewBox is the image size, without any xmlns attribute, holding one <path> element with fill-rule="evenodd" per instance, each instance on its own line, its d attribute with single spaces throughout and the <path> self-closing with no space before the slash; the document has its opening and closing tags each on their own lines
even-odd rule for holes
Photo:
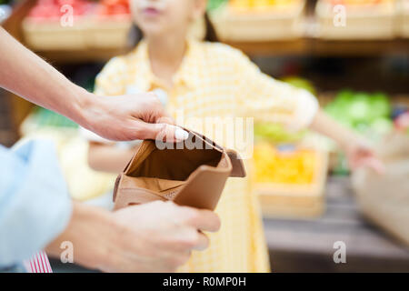
<svg viewBox="0 0 409 291">
<path fill-rule="evenodd" d="M 324 187 L 328 155 L 316 151 L 314 182 L 310 185 L 254 184 L 263 215 L 269 218 L 314 218 L 325 210 Z"/>
</svg>

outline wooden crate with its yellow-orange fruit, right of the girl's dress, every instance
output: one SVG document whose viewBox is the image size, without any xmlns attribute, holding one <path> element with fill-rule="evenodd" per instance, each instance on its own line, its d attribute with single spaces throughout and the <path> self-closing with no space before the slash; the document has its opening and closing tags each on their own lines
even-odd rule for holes
<svg viewBox="0 0 409 291">
<path fill-rule="evenodd" d="M 253 166 L 254 194 L 265 217 L 311 218 L 324 213 L 325 152 L 257 143 Z"/>
</svg>

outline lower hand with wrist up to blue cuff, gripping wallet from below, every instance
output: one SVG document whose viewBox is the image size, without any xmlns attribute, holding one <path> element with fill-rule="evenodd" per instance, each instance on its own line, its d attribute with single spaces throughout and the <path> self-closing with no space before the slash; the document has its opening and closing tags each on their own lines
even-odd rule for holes
<svg viewBox="0 0 409 291">
<path fill-rule="evenodd" d="M 209 242 L 201 231 L 217 231 L 218 216 L 208 210 L 154 202 L 114 213 L 75 203 L 70 224 L 46 251 L 63 252 L 71 241 L 77 264 L 105 272 L 174 272 L 192 250 Z"/>
</svg>

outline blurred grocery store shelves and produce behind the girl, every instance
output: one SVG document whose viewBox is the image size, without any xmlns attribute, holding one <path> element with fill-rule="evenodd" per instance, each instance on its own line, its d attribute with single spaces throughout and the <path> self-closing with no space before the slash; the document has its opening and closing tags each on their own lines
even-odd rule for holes
<svg viewBox="0 0 409 291">
<path fill-rule="evenodd" d="M 72 26 L 61 22 L 65 4 L 74 7 Z M 268 75 L 313 92 L 394 170 L 352 175 L 323 136 L 255 125 L 254 195 L 273 270 L 409 272 L 409 0 L 210 0 L 208 9 L 225 43 Z M 132 26 L 126 0 L 0 0 L 0 23 L 90 91 L 105 62 L 129 49 Z M 192 34 L 203 35 L 201 23 Z M 87 167 L 77 125 L 0 91 L 0 143 L 24 136 L 55 141 L 75 199 L 98 204 L 112 186 L 114 176 Z M 336 242 L 346 246 L 345 264 L 334 262 Z M 55 271 L 85 271 L 52 263 Z"/>
</svg>

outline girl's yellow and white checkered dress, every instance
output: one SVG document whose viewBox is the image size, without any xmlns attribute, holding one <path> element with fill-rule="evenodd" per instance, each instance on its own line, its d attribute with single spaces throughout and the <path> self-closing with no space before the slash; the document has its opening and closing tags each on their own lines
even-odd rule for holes
<svg viewBox="0 0 409 291">
<path fill-rule="evenodd" d="M 142 41 L 128 55 L 110 60 L 97 76 L 95 94 L 125 95 L 161 89 L 167 96 L 167 111 L 175 116 L 254 117 L 280 122 L 297 129 L 311 123 L 318 104 L 313 95 L 264 75 L 239 50 L 219 43 L 187 41 L 182 65 L 172 88 L 153 74 L 147 44 Z M 192 123 L 185 126 L 204 132 Z M 248 166 L 247 166 L 248 167 Z M 210 234 L 211 245 L 194 252 L 181 272 L 268 272 L 270 270 L 263 223 L 250 174 L 231 178 L 216 212 L 222 228 Z"/>
</svg>

